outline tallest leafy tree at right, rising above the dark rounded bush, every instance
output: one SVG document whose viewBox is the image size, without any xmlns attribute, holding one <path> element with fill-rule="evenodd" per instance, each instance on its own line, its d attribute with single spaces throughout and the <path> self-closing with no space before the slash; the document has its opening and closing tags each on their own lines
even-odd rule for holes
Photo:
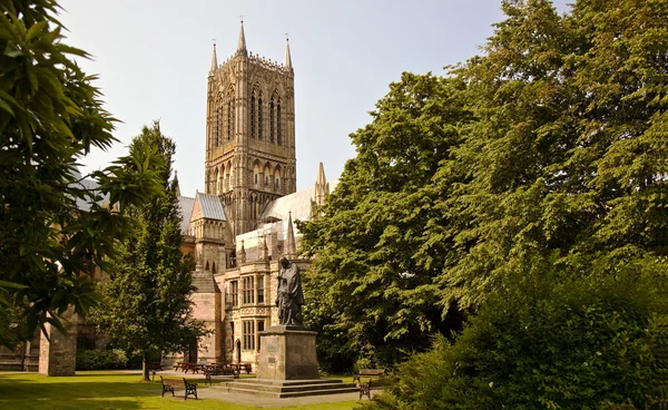
<svg viewBox="0 0 668 410">
<path fill-rule="evenodd" d="M 428 235 L 448 226 L 459 254 L 440 279 L 443 309 L 479 306 L 505 274 L 553 255 L 584 274 L 667 251 L 667 2 L 503 10 L 487 55 L 455 71 L 479 120 L 453 153 L 470 178 L 435 178 L 449 217 Z"/>
</svg>

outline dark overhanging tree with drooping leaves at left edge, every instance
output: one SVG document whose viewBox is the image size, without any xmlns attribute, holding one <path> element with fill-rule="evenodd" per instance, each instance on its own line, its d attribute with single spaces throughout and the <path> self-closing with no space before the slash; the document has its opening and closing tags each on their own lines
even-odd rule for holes
<svg viewBox="0 0 668 410">
<path fill-rule="evenodd" d="M 55 0 L 0 9 L 0 316 L 14 318 L 0 321 L 0 343 L 12 346 L 95 304 L 90 276 L 131 226 L 121 209 L 159 192 L 160 158 L 136 150 L 80 175 L 91 147 L 116 141 L 95 77 L 71 59 L 88 55 L 63 43 Z"/>
</svg>

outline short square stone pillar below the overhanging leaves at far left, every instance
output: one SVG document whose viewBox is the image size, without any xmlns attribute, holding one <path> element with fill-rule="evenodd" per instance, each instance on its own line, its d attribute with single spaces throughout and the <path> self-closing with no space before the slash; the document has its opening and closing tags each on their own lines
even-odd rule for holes
<svg viewBox="0 0 668 410">
<path fill-rule="evenodd" d="M 62 314 L 62 334 L 50 324 L 45 324 L 49 340 L 42 334 L 39 352 L 39 374 L 75 375 L 77 365 L 77 314 L 70 308 Z"/>
</svg>

